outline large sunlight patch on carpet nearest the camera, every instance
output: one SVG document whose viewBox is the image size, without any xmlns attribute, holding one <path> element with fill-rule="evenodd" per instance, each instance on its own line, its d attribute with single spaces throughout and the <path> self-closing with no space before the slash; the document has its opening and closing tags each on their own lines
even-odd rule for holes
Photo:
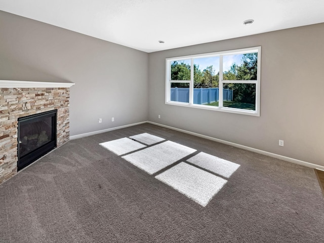
<svg viewBox="0 0 324 243">
<path fill-rule="evenodd" d="M 205 207 L 227 180 L 184 162 L 155 176 L 196 203 Z"/>
</svg>

